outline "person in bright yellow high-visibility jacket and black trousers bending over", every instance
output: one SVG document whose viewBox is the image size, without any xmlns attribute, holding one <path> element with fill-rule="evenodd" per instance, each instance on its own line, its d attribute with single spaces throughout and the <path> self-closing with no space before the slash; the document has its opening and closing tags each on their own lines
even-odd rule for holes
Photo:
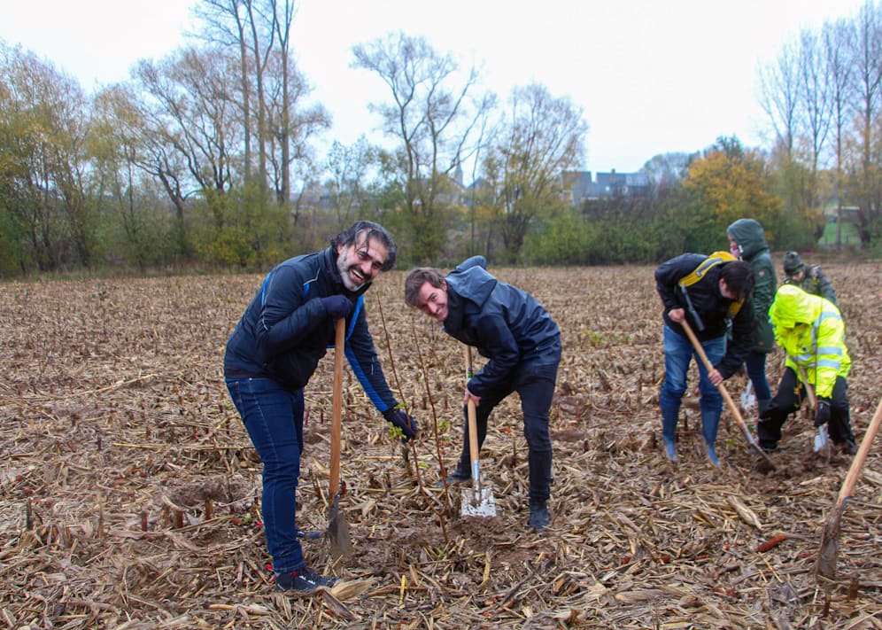
<svg viewBox="0 0 882 630">
<path fill-rule="evenodd" d="M 784 374 L 769 406 L 760 415 L 757 433 L 766 451 L 778 450 L 781 427 L 799 410 L 805 398 L 801 367 L 815 390 L 815 425 L 827 424 L 830 438 L 843 452 L 857 452 L 848 407 L 851 358 L 845 345 L 845 325 L 839 308 L 827 299 L 783 284 L 769 309 L 775 340 L 787 353 Z"/>
</svg>

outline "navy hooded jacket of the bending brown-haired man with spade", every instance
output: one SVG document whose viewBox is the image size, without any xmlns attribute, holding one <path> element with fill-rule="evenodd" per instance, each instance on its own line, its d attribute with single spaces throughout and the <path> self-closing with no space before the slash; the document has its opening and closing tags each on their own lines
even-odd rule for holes
<svg viewBox="0 0 882 630">
<path fill-rule="evenodd" d="M 490 359 L 468 382 L 478 397 L 510 381 L 524 362 L 561 361 L 561 331 L 545 307 L 530 293 L 499 282 L 486 266 L 483 256 L 473 256 L 445 276 L 445 332 Z"/>
</svg>

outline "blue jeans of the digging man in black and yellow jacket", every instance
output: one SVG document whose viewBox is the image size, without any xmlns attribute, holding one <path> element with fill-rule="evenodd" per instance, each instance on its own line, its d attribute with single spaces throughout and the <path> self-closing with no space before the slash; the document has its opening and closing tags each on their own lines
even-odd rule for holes
<svg viewBox="0 0 882 630">
<path fill-rule="evenodd" d="M 726 354 L 725 335 L 715 339 L 701 342 L 708 361 L 716 365 Z M 662 408 L 662 436 L 671 441 L 677 430 L 677 417 L 680 414 L 680 402 L 686 392 L 686 375 L 692 357 L 699 368 L 699 392 L 701 408 L 701 435 L 709 446 L 716 442 L 716 430 L 720 424 L 720 414 L 723 413 L 723 395 L 708 379 L 708 369 L 704 367 L 700 357 L 695 354 L 695 348 L 689 338 L 672 331 L 668 326 L 664 327 L 664 382 L 662 392 L 659 395 L 659 406 Z"/>
</svg>

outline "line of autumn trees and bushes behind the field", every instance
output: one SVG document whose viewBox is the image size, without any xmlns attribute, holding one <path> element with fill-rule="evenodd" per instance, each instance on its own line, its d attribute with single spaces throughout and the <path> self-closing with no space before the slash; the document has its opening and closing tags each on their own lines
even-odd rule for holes
<svg viewBox="0 0 882 630">
<path fill-rule="evenodd" d="M 499 97 L 478 67 L 391 33 L 352 47 L 387 88 L 367 104 L 383 144 L 319 155 L 330 116 L 298 71 L 293 0 L 200 0 L 194 17 L 185 47 L 93 94 L 0 42 L 0 275 L 266 268 L 357 218 L 390 229 L 405 264 L 654 262 L 723 248 L 744 216 L 802 249 L 831 206 L 880 247 L 875 2 L 761 69 L 770 146 L 655 156 L 645 195 L 578 203 L 562 175 L 584 163 L 588 124 L 569 97 L 537 82 Z"/>
</svg>

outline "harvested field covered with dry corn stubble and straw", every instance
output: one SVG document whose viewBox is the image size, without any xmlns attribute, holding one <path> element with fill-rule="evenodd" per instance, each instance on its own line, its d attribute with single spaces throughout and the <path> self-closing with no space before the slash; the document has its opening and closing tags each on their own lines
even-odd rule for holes
<svg viewBox="0 0 882 630">
<path fill-rule="evenodd" d="M 561 325 L 552 525 L 526 527 L 516 396 L 482 451 L 497 516 L 460 517 L 462 487 L 435 487 L 439 459 L 450 469 L 460 452 L 462 348 L 404 306 L 405 272 L 393 271 L 367 292 L 368 319 L 422 438 L 403 450 L 345 369 L 341 508 L 354 552 L 335 564 L 329 541 L 304 541 L 309 564 L 344 581 L 300 598 L 274 592 L 259 460 L 221 373 L 261 276 L 0 285 L 0 626 L 882 626 L 882 438 L 841 520 L 837 577 L 816 579 L 851 457 L 814 454 L 806 412 L 769 470 L 724 411 L 717 470 L 687 405 L 674 467 L 657 411 L 653 268 L 491 270 Z M 882 264 L 824 271 L 847 323 L 860 441 L 882 395 Z M 770 382 L 783 358 L 771 355 Z M 329 352 L 306 390 L 307 531 L 327 528 L 332 380 Z M 727 382 L 736 401 L 745 383 Z"/>
</svg>

